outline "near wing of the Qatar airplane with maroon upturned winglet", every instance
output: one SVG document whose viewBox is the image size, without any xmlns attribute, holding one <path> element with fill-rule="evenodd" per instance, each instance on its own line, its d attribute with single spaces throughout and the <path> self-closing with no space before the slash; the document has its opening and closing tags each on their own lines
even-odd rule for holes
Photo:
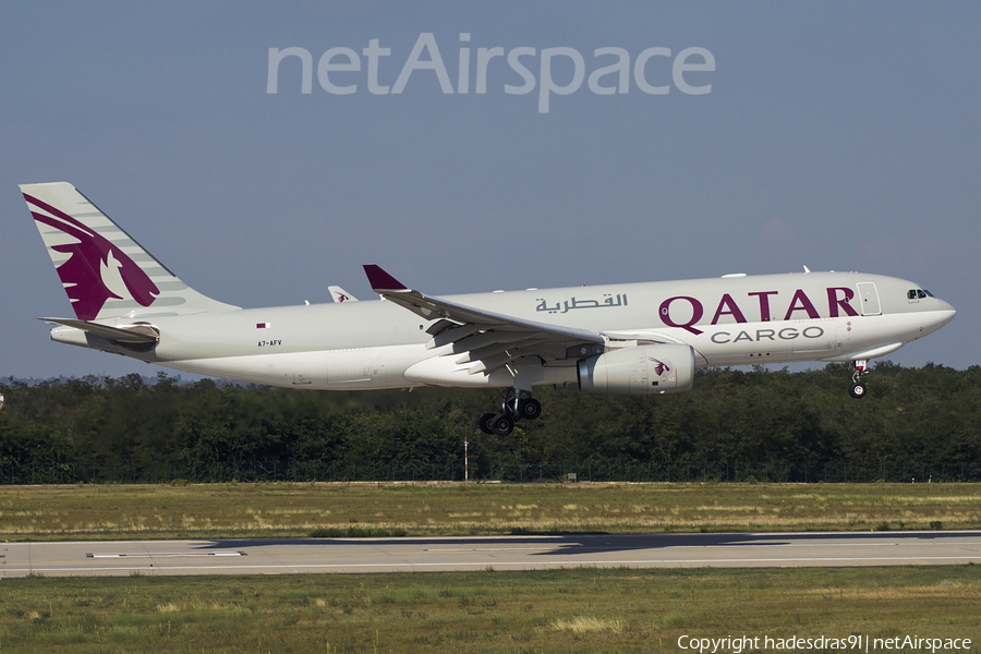
<svg viewBox="0 0 981 654">
<path fill-rule="evenodd" d="M 413 291 L 380 267 L 364 266 L 372 289 L 386 300 L 415 315 L 435 320 L 426 330 L 433 336 L 427 348 L 452 344 L 461 354 L 457 363 L 474 361 L 470 374 L 491 374 L 523 356 L 544 363 L 576 361 L 603 352 L 606 339 L 597 331 L 560 327 L 484 311 Z"/>
</svg>

